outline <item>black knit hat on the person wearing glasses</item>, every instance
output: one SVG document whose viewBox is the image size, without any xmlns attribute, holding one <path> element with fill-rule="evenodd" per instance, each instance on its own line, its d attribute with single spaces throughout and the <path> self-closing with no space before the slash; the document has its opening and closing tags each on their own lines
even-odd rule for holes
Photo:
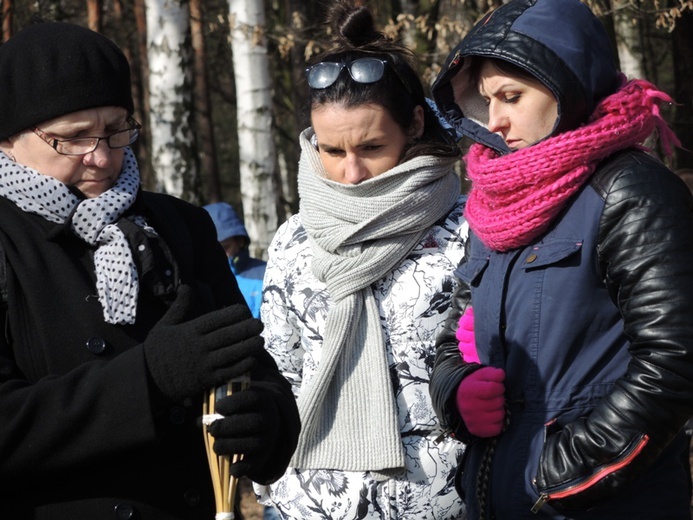
<svg viewBox="0 0 693 520">
<path fill-rule="evenodd" d="M 104 106 L 134 111 L 130 66 L 105 36 L 71 23 L 44 22 L 0 46 L 0 140 Z"/>
</svg>

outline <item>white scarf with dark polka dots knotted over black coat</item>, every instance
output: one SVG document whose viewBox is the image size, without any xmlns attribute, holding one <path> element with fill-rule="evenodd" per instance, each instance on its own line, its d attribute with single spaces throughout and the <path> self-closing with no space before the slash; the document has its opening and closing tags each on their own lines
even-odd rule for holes
<svg viewBox="0 0 693 520">
<path fill-rule="evenodd" d="M 81 199 L 62 182 L 12 161 L 0 152 L 0 196 L 27 213 L 50 222 L 70 223 L 70 229 L 96 246 L 96 289 L 107 323 L 135 323 L 139 282 L 132 251 L 117 222 L 132 205 L 140 186 L 137 160 L 125 149 L 123 169 L 107 192 Z M 142 217 L 128 217 L 142 228 Z"/>
</svg>

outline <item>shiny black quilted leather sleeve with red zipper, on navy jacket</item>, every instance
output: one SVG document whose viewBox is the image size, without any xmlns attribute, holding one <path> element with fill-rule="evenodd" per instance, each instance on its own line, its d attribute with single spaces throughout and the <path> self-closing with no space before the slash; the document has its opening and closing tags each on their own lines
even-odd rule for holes
<svg viewBox="0 0 693 520">
<path fill-rule="evenodd" d="M 573 509 L 641 476 L 693 413 L 693 198 L 643 153 L 618 164 L 600 176 L 599 258 L 631 361 L 588 416 L 547 438 L 537 474 L 549 500 L 582 484 L 552 502 Z"/>
</svg>

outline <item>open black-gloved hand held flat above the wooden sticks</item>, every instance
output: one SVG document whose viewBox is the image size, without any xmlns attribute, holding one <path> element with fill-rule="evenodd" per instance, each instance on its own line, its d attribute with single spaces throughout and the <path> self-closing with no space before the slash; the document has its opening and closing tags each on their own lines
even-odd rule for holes
<svg viewBox="0 0 693 520">
<path fill-rule="evenodd" d="M 246 305 L 232 305 L 189 321 L 193 291 L 182 285 L 144 342 L 152 380 L 161 393 L 182 401 L 252 369 L 266 355 L 262 322 Z"/>
</svg>

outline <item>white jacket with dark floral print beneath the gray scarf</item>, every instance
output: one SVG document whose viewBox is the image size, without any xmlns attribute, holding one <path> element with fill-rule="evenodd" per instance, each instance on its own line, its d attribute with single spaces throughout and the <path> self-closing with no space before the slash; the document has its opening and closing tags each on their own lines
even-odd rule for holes
<svg viewBox="0 0 693 520">
<path fill-rule="evenodd" d="M 376 480 L 369 472 L 289 468 L 270 487 L 256 486 L 261 503 L 284 518 L 460 519 L 464 505 L 453 485 L 464 446 L 441 434 L 428 393 L 434 343 L 450 309 L 453 271 L 468 226 L 461 197 L 448 217 L 389 275 L 373 284 L 392 373 L 406 474 Z M 269 249 L 261 316 L 266 346 L 298 397 L 320 362 L 325 317 L 332 305 L 311 270 L 313 254 L 300 215 L 277 231 Z"/>
</svg>

